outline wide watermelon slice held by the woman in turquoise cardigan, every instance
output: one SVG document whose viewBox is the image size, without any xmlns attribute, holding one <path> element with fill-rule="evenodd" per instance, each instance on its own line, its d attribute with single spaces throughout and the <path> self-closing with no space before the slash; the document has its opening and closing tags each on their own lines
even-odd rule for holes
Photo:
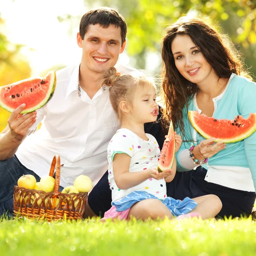
<svg viewBox="0 0 256 256">
<path fill-rule="evenodd" d="M 215 142 L 236 142 L 256 131 L 256 113 L 250 113 L 247 119 L 236 116 L 234 120 L 228 120 L 200 115 L 198 111 L 189 111 L 189 120 L 199 134 L 206 139 L 215 138 Z"/>
</svg>

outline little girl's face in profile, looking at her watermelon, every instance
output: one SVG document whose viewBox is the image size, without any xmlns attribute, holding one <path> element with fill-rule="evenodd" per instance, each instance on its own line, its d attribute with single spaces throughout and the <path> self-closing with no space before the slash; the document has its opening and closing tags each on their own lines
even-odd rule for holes
<svg viewBox="0 0 256 256">
<path fill-rule="evenodd" d="M 130 114 L 138 123 L 154 122 L 157 120 L 158 104 L 156 89 L 153 85 L 138 87 L 134 94 Z"/>
</svg>

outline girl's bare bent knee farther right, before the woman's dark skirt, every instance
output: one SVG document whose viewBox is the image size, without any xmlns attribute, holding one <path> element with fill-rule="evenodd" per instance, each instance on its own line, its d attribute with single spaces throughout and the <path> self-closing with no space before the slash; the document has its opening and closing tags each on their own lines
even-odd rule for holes
<svg viewBox="0 0 256 256">
<path fill-rule="evenodd" d="M 191 212 L 200 213 L 203 220 L 214 218 L 221 211 L 222 203 L 216 195 L 203 195 L 192 199 L 198 205 Z"/>
</svg>

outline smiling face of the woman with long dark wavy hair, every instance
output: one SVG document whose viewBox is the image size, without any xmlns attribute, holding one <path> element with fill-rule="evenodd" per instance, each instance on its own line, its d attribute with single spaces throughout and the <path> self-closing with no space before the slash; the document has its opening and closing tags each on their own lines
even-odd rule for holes
<svg viewBox="0 0 256 256">
<path fill-rule="evenodd" d="M 192 83 L 200 84 L 214 74 L 211 65 L 188 35 L 175 37 L 172 41 L 172 54 L 177 70 Z"/>
</svg>

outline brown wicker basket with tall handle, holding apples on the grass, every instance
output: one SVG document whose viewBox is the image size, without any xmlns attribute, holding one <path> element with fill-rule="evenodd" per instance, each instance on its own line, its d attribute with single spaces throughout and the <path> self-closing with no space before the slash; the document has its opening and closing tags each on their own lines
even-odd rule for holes
<svg viewBox="0 0 256 256">
<path fill-rule="evenodd" d="M 55 155 L 52 160 L 49 176 L 56 169 L 53 192 L 14 187 L 13 208 L 15 216 L 26 218 L 43 218 L 51 220 L 67 218 L 81 219 L 84 214 L 88 193 L 61 194 L 58 191 L 60 182 L 60 157 Z"/>
</svg>

